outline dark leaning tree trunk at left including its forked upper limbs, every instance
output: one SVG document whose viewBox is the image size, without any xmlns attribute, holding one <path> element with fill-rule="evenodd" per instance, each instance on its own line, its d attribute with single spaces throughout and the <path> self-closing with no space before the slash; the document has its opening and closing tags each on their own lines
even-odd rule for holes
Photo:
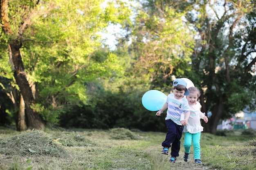
<svg viewBox="0 0 256 170">
<path fill-rule="evenodd" d="M 39 0 L 36 1 L 35 5 L 39 3 Z M 14 78 L 16 79 L 16 83 L 20 87 L 20 92 L 24 98 L 25 108 L 27 113 L 27 127 L 30 129 L 33 128 L 45 128 L 45 124 L 41 115 L 34 110 L 35 99 L 33 98 L 31 88 L 29 87 L 29 83 L 27 81 L 25 69 L 20 56 L 20 48 L 22 43 L 19 41 L 22 38 L 22 34 L 25 31 L 27 24 L 29 23 L 30 17 L 33 15 L 31 11 L 27 16 L 26 20 L 22 21 L 22 25 L 19 28 L 19 32 L 17 33 L 19 36 L 17 39 L 13 40 L 11 37 L 16 37 L 15 33 L 13 33 L 8 15 L 8 0 L 0 1 L 0 22 L 2 30 L 5 35 L 9 35 L 8 40 L 8 50 L 9 57 L 11 63 L 13 63 L 14 67 Z"/>
</svg>

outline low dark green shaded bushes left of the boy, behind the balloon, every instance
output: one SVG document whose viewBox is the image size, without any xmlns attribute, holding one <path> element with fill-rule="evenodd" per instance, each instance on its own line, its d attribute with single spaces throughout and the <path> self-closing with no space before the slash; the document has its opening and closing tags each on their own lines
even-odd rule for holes
<svg viewBox="0 0 256 170">
<path fill-rule="evenodd" d="M 76 128 L 136 128 L 145 131 L 165 131 L 164 118 L 146 110 L 141 104 L 143 93 L 119 94 L 101 91 L 93 99 L 95 107 L 71 107 L 60 117 L 60 126 Z"/>
</svg>

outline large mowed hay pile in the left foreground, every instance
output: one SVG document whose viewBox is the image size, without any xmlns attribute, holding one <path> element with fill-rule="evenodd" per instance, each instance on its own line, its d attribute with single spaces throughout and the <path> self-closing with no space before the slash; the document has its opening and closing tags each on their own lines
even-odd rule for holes
<svg viewBox="0 0 256 170">
<path fill-rule="evenodd" d="M 4 155 L 41 155 L 68 157 L 67 150 L 41 130 L 32 130 L 9 138 L 0 139 L 0 154 Z"/>
</svg>

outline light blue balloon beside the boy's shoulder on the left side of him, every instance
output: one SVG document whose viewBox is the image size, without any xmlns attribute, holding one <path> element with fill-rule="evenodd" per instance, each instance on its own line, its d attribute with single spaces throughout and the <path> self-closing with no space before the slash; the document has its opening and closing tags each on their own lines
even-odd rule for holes
<svg viewBox="0 0 256 170">
<path fill-rule="evenodd" d="M 164 106 L 166 99 L 167 96 L 163 92 L 150 90 L 144 93 L 141 102 L 146 109 L 150 111 L 157 111 L 160 110 L 162 106 Z"/>
</svg>

